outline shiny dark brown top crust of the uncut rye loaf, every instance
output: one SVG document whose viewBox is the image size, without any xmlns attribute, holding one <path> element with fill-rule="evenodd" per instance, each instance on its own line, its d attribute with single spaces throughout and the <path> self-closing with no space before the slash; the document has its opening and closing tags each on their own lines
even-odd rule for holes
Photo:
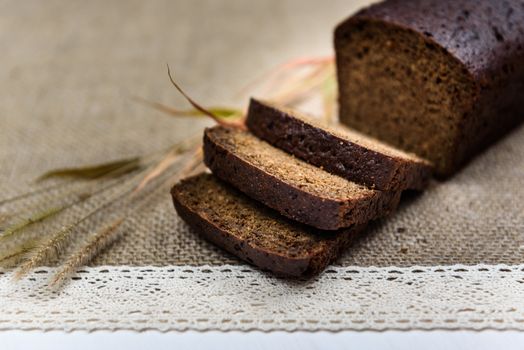
<svg viewBox="0 0 524 350">
<path fill-rule="evenodd" d="M 523 0 L 388 0 L 348 21 L 368 18 L 415 30 L 444 47 L 476 77 L 524 58 Z"/>
</svg>

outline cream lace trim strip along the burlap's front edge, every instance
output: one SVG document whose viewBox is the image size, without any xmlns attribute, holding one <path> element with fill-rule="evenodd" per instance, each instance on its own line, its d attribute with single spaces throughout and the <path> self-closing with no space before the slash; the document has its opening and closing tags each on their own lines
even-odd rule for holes
<svg viewBox="0 0 524 350">
<path fill-rule="evenodd" d="M 1 329 L 524 330 L 524 265 L 332 267 L 311 281 L 243 266 L 52 268 L 0 277 Z"/>
</svg>

